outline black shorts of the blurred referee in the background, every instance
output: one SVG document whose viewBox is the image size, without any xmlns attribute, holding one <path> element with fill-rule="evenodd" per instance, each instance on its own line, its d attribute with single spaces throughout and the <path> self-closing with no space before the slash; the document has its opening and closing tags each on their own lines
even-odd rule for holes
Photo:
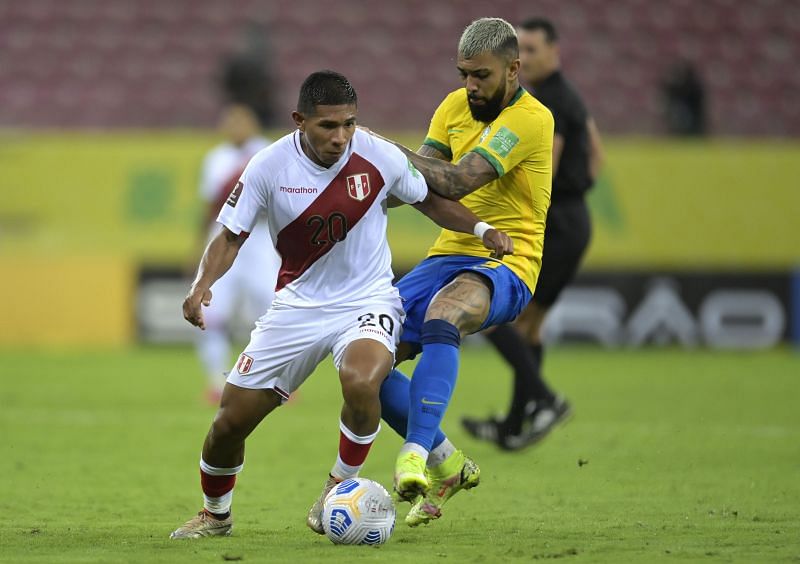
<svg viewBox="0 0 800 564">
<path fill-rule="evenodd" d="M 544 231 L 542 270 L 533 302 L 549 308 L 578 271 L 592 237 L 589 208 L 583 199 L 550 206 Z"/>
</svg>

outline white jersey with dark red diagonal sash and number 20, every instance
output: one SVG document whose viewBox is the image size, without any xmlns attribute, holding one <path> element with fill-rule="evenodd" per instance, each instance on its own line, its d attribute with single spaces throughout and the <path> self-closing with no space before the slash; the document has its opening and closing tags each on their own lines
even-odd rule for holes
<svg viewBox="0 0 800 564">
<path fill-rule="evenodd" d="M 427 194 L 422 175 L 387 141 L 356 130 L 339 161 L 324 168 L 305 155 L 295 131 L 253 157 L 218 221 L 250 233 L 266 212 L 281 258 L 274 306 L 350 306 L 397 293 L 387 199 L 414 204 Z"/>
</svg>

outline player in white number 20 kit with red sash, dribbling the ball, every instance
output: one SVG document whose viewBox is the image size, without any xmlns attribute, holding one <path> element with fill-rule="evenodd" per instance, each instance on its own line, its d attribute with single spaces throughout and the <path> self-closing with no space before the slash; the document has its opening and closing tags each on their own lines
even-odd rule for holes
<svg viewBox="0 0 800 564">
<path fill-rule="evenodd" d="M 172 538 L 230 534 L 245 439 L 328 354 L 344 397 L 330 481 L 358 474 L 379 430 L 379 391 L 404 316 L 392 286 L 387 206 L 412 204 L 442 227 L 481 232 L 497 257 L 513 251 L 508 235 L 484 230 L 464 206 L 428 192 L 397 148 L 356 131 L 356 93 L 342 75 L 311 74 L 292 117 L 297 131 L 259 152 L 222 206 L 223 229 L 208 245 L 183 303 L 184 317 L 204 328 L 201 304 L 210 303 L 211 285 L 266 213 L 281 257 L 275 299 L 231 370 L 206 436 L 203 510 Z"/>
</svg>

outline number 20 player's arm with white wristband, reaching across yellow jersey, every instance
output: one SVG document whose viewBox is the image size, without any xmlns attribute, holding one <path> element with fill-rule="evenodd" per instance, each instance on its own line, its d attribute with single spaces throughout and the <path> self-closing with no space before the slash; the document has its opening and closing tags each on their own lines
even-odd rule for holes
<svg viewBox="0 0 800 564">
<path fill-rule="evenodd" d="M 432 192 L 414 207 L 431 218 L 437 225 L 459 231 L 472 233 L 483 241 L 483 245 L 492 251 L 492 257 L 501 259 L 505 255 L 514 254 L 514 241 L 503 233 L 493 228 L 488 223 L 472 213 L 458 202 L 454 202 Z"/>
</svg>

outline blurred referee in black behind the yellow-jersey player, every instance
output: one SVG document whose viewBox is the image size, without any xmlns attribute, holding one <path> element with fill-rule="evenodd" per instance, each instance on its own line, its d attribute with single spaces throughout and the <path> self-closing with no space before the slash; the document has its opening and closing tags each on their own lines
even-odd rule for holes
<svg viewBox="0 0 800 564">
<path fill-rule="evenodd" d="M 547 311 L 575 276 L 591 237 L 585 196 L 602 160 L 600 134 L 575 88 L 561 73 L 558 33 L 543 18 L 517 29 L 520 79 L 555 119 L 553 191 L 542 270 L 533 299 L 514 325 L 501 325 L 489 341 L 514 370 L 514 395 L 504 419 L 465 417 L 472 436 L 517 450 L 542 439 L 570 415 L 569 402 L 542 378 L 541 327 Z"/>
</svg>

